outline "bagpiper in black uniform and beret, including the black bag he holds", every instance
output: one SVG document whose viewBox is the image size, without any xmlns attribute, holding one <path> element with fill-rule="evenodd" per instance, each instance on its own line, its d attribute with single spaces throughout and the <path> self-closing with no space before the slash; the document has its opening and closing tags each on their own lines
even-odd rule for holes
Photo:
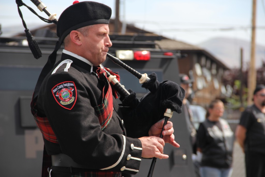
<svg viewBox="0 0 265 177">
<path fill-rule="evenodd" d="M 153 74 L 145 98 L 139 101 L 131 92 L 117 104 L 116 90 L 100 65 L 112 46 L 110 17 L 110 7 L 84 1 L 58 19 L 59 41 L 49 59 L 63 44 L 61 60 L 36 86 L 31 103 L 45 144 L 43 176 L 136 174 L 141 158 L 166 159 L 165 143 L 179 147 L 172 122 L 163 127 L 160 121 L 167 107 L 180 112 L 185 92 L 179 85 L 159 83 Z"/>
</svg>

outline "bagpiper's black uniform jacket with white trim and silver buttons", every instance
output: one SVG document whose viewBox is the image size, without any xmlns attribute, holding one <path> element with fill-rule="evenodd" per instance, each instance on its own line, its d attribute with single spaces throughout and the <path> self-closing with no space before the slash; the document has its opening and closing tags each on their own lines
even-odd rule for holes
<svg viewBox="0 0 265 177">
<path fill-rule="evenodd" d="M 85 58 L 63 50 L 61 61 L 44 79 L 38 114 L 47 116 L 59 142 L 44 139 L 47 153 L 66 154 L 88 169 L 135 174 L 140 166 L 141 142 L 126 137 L 114 97 L 112 117 L 101 130 L 94 108 L 103 102 L 102 89 L 107 81 L 99 79 L 91 65 Z"/>
</svg>

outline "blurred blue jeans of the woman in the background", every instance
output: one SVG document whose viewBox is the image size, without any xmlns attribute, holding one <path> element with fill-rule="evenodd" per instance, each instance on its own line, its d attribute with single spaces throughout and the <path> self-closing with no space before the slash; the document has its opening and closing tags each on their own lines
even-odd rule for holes
<svg viewBox="0 0 265 177">
<path fill-rule="evenodd" d="M 233 168 L 200 167 L 201 177 L 230 177 Z"/>
</svg>

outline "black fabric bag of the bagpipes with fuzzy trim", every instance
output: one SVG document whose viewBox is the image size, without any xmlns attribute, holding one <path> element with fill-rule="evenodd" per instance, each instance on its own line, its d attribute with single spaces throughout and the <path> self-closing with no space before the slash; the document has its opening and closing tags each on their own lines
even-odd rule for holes
<svg viewBox="0 0 265 177">
<path fill-rule="evenodd" d="M 155 73 L 148 75 L 150 81 L 143 83 L 142 87 L 149 92 L 140 100 L 135 92 L 122 100 L 120 111 L 122 113 L 127 136 L 139 138 L 148 136 L 149 128 L 164 118 L 167 108 L 181 113 L 182 101 L 185 91 L 172 81 L 158 82 Z M 145 130 L 145 131 L 143 131 Z"/>
</svg>

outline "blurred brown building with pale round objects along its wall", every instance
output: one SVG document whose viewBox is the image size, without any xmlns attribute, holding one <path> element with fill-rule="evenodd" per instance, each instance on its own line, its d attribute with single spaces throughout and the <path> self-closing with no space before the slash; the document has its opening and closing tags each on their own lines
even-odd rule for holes
<svg viewBox="0 0 265 177">
<path fill-rule="evenodd" d="M 193 80 L 192 104 L 206 107 L 215 98 L 224 99 L 232 94 L 232 87 L 223 84 L 223 73 L 229 68 L 206 50 L 180 41 L 157 41 L 163 49 L 180 50 L 186 57 L 180 59 L 179 72 Z"/>
</svg>

